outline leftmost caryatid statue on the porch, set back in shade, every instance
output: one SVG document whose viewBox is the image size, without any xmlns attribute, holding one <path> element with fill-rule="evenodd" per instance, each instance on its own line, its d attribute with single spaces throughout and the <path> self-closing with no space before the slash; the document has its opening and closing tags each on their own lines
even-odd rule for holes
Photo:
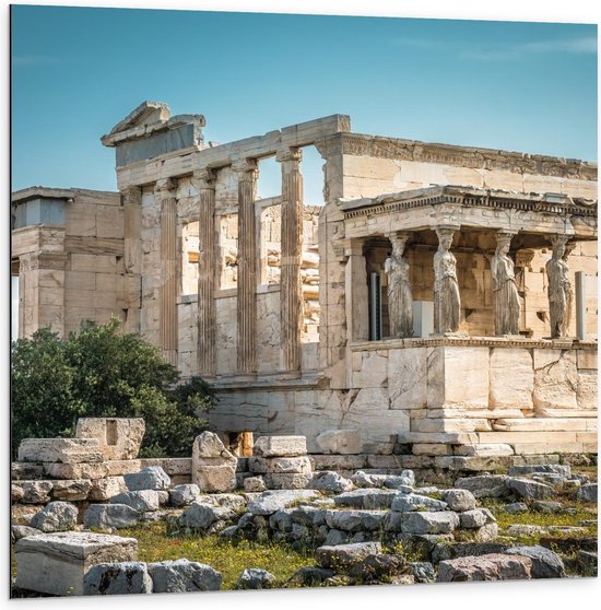
<svg viewBox="0 0 601 610">
<path fill-rule="evenodd" d="M 409 235 L 389 235 L 392 254 L 386 259 L 384 270 L 388 275 L 388 312 L 390 336 L 413 337 L 413 296 L 409 279 L 409 262 L 403 256 Z"/>
</svg>

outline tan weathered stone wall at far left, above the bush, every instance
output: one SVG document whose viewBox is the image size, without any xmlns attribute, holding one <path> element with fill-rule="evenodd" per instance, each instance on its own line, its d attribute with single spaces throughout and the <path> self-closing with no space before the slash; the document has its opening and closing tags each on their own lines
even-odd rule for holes
<svg viewBox="0 0 601 610">
<path fill-rule="evenodd" d="M 39 190 L 43 198 L 46 191 L 56 191 Z M 19 259 L 21 337 L 45 326 L 67 336 L 85 319 L 104 324 L 111 314 L 127 319 L 138 305 L 126 285 L 119 193 L 83 189 L 58 193 L 64 206 L 63 225 L 37 224 L 12 233 L 12 258 Z M 19 202 L 17 197 L 13 201 Z"/>
</svg>

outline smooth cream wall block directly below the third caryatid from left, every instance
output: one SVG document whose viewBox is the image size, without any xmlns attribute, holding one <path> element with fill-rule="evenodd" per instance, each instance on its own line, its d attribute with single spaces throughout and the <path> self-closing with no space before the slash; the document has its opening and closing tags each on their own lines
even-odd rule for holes
<svg viewBox="0 0 601 610">
<path fill-rule="evenodd" d="M 529 350 L 491 350 L 491 408 L 532 409 L 534 369 Z"/>
</svg>

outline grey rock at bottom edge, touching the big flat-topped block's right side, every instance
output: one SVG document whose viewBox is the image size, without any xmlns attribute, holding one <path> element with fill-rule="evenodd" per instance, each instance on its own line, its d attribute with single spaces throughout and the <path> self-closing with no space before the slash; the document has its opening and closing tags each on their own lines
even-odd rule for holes
<svg viewBox="0 0 601 610">
<path fill-rule="evenodd" d="M 146 564 L 137 561 L 98 563 L 83 577 L 83 595 L 129 595 L 153 593 Z"/>
</svg>

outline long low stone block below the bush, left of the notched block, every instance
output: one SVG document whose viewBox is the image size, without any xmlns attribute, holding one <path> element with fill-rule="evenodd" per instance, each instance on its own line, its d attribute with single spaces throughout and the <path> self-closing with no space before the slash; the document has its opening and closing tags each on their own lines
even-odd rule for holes
<svg viewBox="0 0 601 610">
<path fill-rule="evenodd" d="M 19 446 L 17 459 L 19 461 L 81 464 L 103 461 L 104 456 L 95 438 L 25 438 Z"/>
</svg>

